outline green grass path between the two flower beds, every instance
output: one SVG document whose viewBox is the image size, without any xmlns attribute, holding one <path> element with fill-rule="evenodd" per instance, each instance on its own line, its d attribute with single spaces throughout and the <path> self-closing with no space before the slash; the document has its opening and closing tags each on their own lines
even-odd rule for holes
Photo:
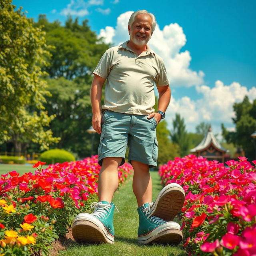
<svg viewBox="0 0 256 256">
<path fill-rule="evenodd" d="M 162 189 L 157 172 L 151 172 L 153 180 L 153 200 Z M 132 192 L 132 179 L 129 179 L 115 193 L 114 204 L 119 212 L 114 213 L 115 242 L 114 244 L 77 244 L 73 242 L 58 256 L 186 256 L 179 246 L 143 246 L 137 244 L 138 212 L 136 198 Z M 175 219 L 174 221 L 178 221 Z"/>
</svg>

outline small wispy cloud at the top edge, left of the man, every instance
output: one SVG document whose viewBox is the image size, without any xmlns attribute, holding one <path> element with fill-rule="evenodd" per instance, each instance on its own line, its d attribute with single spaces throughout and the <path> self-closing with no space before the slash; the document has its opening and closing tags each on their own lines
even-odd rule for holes
<svg viewBox="0 0 256 256">
<path fill-rule="evenodd" d="M 88 7 L 102 5 L 103 2 L 103 0 L 89 0 L 88 2 L 84 0 L 71 0 L 70 4 L 67 4 L 67 7 L 62 9 L 60 14 L 83 17 L 89 14 Z"/>
</svg>

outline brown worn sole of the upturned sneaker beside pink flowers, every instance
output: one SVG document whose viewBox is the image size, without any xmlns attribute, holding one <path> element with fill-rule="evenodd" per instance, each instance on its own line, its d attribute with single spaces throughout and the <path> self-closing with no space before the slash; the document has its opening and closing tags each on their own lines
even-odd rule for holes
<svg viewBox="0 0 256 256">
<path fill-rule="evenodd" d="M 166 185 L 156 197 L 150 216 L 157 216 L 166 221 L 173 221 L 185 202 L 185 192 L 176 183 Z"/>
</svg>

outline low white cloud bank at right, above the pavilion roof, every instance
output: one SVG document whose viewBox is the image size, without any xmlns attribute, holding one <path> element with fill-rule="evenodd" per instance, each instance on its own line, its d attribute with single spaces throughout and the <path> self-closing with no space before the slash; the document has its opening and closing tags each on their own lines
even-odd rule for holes
<svg viewBox="0 0 256 256">
<path fill-rule="evenodd" d="M 175 113 L 179 113 L 184 118 L 190 132 L 194 132 L 195 126 L 200 122 L 211 123 L 214 133 L 220 132 L 221 123 L 232 130 L 234 129 L 232 123 L 233 104 L 242 102 L 246 95 L 251 101 L 256 98 L 256 87 L 248 89 L 238 82 L 224 85 L 218 80 L 213 88 L 201 85 L 196 86 L 196 90 L 202 95 L 198 100 L 191 100 L 189 97 L 182 97 L 178 100 L 172 98 L 166 111 L 169 128 L 172 128 L 172 119 L 175 117 Z"/>
</svg>

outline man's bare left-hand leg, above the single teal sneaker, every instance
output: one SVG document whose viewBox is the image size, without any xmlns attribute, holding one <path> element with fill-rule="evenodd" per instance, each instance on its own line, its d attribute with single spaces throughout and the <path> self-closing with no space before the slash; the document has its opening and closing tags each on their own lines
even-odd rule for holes
<svg viewBox="0 0 256 256">
<path fill-rule="evenodd" d="M 98 179 L 99 202 L 111 202 L 114 192 L 118 188 L 118 166 L 122 161 L 122 157 L 106 157 L 103 158 L 102 167 Z"/>
</svg>

